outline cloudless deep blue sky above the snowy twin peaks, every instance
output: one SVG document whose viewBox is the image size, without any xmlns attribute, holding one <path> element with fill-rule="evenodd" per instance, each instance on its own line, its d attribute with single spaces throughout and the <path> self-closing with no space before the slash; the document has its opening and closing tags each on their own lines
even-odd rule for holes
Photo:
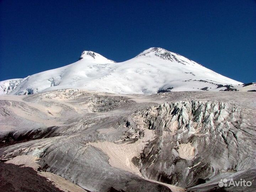
<svg viewBox="0 0 256 192">
<path fill-rule="evenodd" d="M 0 80 L 74 63 L 83 50 L 122 62 L 161 47 L 256 81 L 255 0 L 1 0 Z"/>
</svg>

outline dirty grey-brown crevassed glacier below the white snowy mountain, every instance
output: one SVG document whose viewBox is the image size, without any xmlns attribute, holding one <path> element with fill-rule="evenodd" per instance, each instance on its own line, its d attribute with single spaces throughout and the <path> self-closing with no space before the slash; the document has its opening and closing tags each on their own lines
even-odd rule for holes
<svg viewBox="0 0 256 192">
<path fill-rule="evenodd" d="M 255 96 L 74 89 L 0 96 L 1 167 L 33 169 L 66 192 L 254 191 Z M 252 185 L 219 187 L 224 178 Z"/>
</svg>

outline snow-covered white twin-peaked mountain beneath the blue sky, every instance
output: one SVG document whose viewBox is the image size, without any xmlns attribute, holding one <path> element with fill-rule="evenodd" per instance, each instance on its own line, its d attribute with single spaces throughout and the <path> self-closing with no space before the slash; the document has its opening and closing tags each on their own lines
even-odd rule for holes
<svg viewBox="0 0 256 192">
<path fill-rule="evenodd" d="M 68 88 L 118 94 L 154 94 L 168 91 L 250 91 L 255 90 L 255 83 L 246 86 L 179 54 L 155 47 L 121 63 L 84 51 L 79 60 L 70 65 L 24 79 L 0 82 L 1 95 L 27 95 Z"/>
</svg>

